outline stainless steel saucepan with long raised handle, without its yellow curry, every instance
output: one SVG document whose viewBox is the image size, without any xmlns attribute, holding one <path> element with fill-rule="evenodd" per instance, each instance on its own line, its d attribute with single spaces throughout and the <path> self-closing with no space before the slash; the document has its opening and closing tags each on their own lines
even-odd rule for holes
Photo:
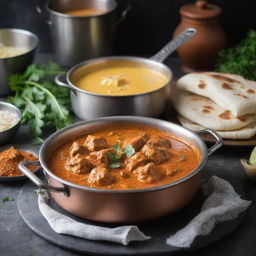
<svg viewBox="0 0 256 256">
<path fill-rule="evenodd" d="M 103 57 L 82 62 L 71 68 L 66 75 L 57 76 L 55 82 L 60 86 L 70 89 L 72 109 L 82 120 L 113 115 L 158 117 L 163 113 L 169 100 L 170 82 L 173 76 L 170 68 L 161 62 L 195 34 L 196 30 L 193 28 L 185 30 L 150 59 L 118 56 Z M 167 77 L 168 82 L 155 91 L 128 96 L 95 94 L 76 87 L 74 82 L 76 77 L 86 74 L 91 68 L 104 68 L 116 61 L 126 61 L 133 63 L 134 66 L 159 71 Z"/>
</svg>

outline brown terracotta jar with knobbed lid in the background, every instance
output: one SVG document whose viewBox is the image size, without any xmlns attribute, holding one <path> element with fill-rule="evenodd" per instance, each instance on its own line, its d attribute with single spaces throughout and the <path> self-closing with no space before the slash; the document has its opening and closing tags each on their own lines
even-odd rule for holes
<svg viewBox="0 0 256 256">
<path fill-rule="evenodd" d="M 221 9 L 206 1 L 196 1 L 180 8 L 181 23 L 174 31 L 176 36 L 186 28 L 197 29 L 197 34 L 178 49 L 184 72 L 212 70 L 217 54 L 226 44 L 220 25 Z"/>
</svg>

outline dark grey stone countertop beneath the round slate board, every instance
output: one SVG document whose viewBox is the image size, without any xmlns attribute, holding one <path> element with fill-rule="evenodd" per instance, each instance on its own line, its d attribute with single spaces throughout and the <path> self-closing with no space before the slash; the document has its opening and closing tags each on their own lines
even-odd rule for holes
<svg viewBox="0 0 256 256">
<path fill-rule="evenodd" d="M 37 62 L 46 62 L 51 55 L 38 55 Z M 179 71 L 179 60 L 168 59 L 169 65 L 176 77 L 181 75 Z M 27 127 L 23 126 L 12 144 L 31 145 Z M 253 147 L 229 147 L 224 146 L 218 152 L 209 157 L 204 168 L 203 175 L 210 177 L 217 175 L 221 178 L 239 184 L 244 190 L 244 198 L 252 200 L 245 219 L 235 232 L 226 238 L 206 248 L 184 255 L 201 256 L 252 256 L 256 255 L 256 183 L 249 180 L 239 162 L 240 158 L 247 158 Z M 69 252 L 53 244 L 46 242 L 31 231 L 19 216 L 17 209 L 17 198 L 23 182 L 7 183 L 0 182 L 0 256 L 75 256 L 76 253 Z M 235 187 L 236 189 L 236 187 Z M 14 198 L 14 201 L 2 202 L 6 196 Z M 30 211 L 31 209 L 28 209 Z M 182 255 L 182 254 L 181 254 Z"/>
</svg>

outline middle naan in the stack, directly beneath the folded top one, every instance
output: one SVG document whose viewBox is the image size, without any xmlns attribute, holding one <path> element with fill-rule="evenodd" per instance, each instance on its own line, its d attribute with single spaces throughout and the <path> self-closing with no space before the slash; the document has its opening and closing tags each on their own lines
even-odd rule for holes
<svg viewBox="0 0 256 256">
<path fill-rule="evenodd" d="M 185 118 L 214 130 L 236 130 L 256 122 L 256 115 L 234 117 L 209 98 L 177 90 L 174 107 Z"/>
</svg>

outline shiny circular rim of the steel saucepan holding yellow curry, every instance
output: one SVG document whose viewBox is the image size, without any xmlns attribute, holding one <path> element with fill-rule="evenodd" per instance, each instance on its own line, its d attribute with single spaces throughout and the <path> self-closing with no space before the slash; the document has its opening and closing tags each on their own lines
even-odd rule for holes
<svg viewBox="0 0 256 256">
<path fill-rule="evenodd" d="M 93 92 L 82 90 L 82 89 L 78 88 L 77 86 L 75 86 L 71 82 L 70 76 L 72 75 L 72 73 L 74 71 L 76 71 L 77 69 L 79 69 L 82 66 L 90 65 L 90 64 L 97 63 L 99 61 L 104 61 L 104 60 L 106 60 L 106 61 L 108 61 L 108 60 L 128 60 L 128 61 L 144 62 L 144 63 L 148 63 L 148 64 L 151 64 L 151 65 L 160 66 L 160 67 L 164 68 L 168 72 L 170 78 L 169 78 L 169 80 L 167 81 L 166 84 L 164 84 L 160 88 L 157 88 L 157 89 L 155 89 L 153 91 L 137 93 L 137 94 L 130 94 L 130 95 L 106 95 L 106 94 L 93 93 Z M 76 64 L 75 66 L 70 68 L 68 70 L 67 74 L 66 74 L 66 80 L 67 80 L 69 86 L 72 89 L 74 89 L 74 90 L 76 90 L 78 92 L 84 93 L 84 94 L 98 96 L 98 97 L 106 97 L 106 98 L 129 98 L 129 97 L 148 95 L 148 94 L 154 93 L 156 91 L 159 91 L 159 90 L 169 86 L 172 78 L 173 78 L 173 73 L 172 73 L 171 69 L 167 65 L 165 65 L 165 64 L 163 64 L 161 62 L 157 62 L 155 60 L 151 60 L 151 59 L 147 59 L 147 58 L 142 58 L 142 57 L 134 57 L 134 56 L 108 56 L 108 57 L 100 57 L 100 58 L 90 59 L 90 60 L 83 61 L 83 62 L 80 62 L 80 63 Z"/>
</svg>

